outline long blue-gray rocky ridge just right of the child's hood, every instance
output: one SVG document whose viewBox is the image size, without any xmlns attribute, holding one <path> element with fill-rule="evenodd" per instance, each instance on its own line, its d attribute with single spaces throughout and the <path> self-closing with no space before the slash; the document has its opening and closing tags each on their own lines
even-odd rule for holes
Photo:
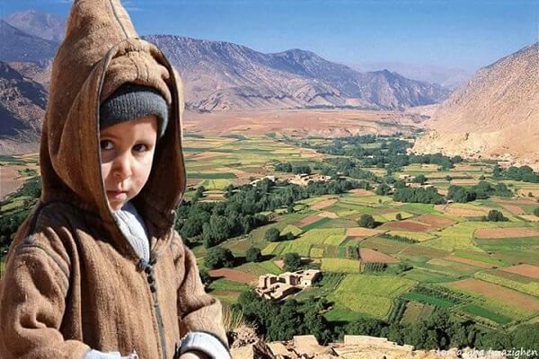
<svg viewBox="0 0 539 359">
<path fill-rule="evenodd" d="M 193 109 L 406 109 L 442 101 L 448 91 L 389 71 L 358 73 L 311 51 L 263 54 L 224 41 L 169 35 L 145 39 L 181 70 Z"/>
</svg>

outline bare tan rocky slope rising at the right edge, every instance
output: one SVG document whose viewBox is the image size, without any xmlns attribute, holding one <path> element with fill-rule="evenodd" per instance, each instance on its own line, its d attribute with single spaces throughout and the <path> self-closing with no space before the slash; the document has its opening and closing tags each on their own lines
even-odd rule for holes
<svg viewBox="0 0 539 359">
<path fill-rule="evenodd" d="M 429 128 L 414 151 L 500 157 L 539 168 L 539 44 L 478 71 L 439 106 Z"/>
</svg>

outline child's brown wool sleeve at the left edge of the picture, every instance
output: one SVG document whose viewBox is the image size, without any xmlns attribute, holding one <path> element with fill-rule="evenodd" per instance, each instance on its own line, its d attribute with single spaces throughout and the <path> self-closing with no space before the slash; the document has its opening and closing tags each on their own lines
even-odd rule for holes
<svg viewBox="0 0 539 359">
<path fill-rule="evenodd" d="M 50 230 L 13 242 L 0 292 L 0 357 L 80 359 L 90 351 L 59 331 L 70 276 L 62 249 Z"/>
</svg>

